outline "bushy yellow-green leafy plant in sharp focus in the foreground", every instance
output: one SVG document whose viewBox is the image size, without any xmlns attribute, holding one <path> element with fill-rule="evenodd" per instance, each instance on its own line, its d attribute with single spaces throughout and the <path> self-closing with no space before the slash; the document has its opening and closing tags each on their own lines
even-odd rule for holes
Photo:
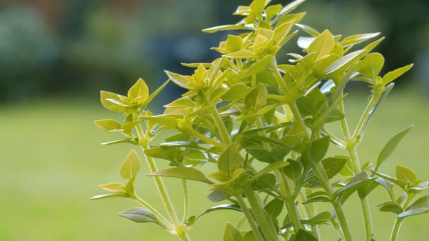
<svg viewBox="0 0 429 241">
<path fill-rule="evenodd" d="M 380 210 L 396 214 L 390 240 L 397 240 L 404 218 L 429 211 L 429 196 L 420 196 L 428 182 L 417 178 L 412 169 L 397 165 L 395 177 L 379 171 L 411 127 L 395 134 L 375 163 L 362 165 L 357 147 L 375 110 L 392 90 L 392 81 L 412 65 L 380 76 L 383 56 L 371 51 L 383 38 L 357 48 L 379 33 L 343 38 L 329 30 L 318 32 L 299 24 L 305 12 L 290 13 L 302 0 L 284 7 L 268 6 L 269 2 L 255 0 L 250 6 L 239 6 L 235 14 L 243 16 L 242 21 L 206 29 L 243 33 L 228 35 L 214 48 L 222 55 L 212 63 L 184 64 L 196 68 L 192 76 L 166 71 L 168 81 L 152 94 L 141 79 L 127 96 L 101 92 L 103 106 L 125 116 L 121 122 L 95 122 L 108 132 L 126 136 L 104 144 L 141 147 L 150 168 L 148 176 L 154 178 L 167 216 L 137 196 L 134 182 L 140 160 L 136 151 L 121 165 L 119 172 L 125 183 L 100 185 L 109 193 L 93 199 L 136 200 L 142 207 L 119 216 L 155 222 L 180 240 L 189 240 L 187 232 L 201 215 L 230 209 L 243 213 L 250 231 L 227 224 L 223 240 L 320 240 L 319 226 L 328 224 L 339 240 L 350 241 L 353 235 L 342 205 L 357 193 L 365 220 L 362 230 L 370 241 L 375 237 L 367 196 L 381 187 L 389 195 Z M 277 52 L 298 30 L 310 34 L 298 39 L 304 55 L 289 53 L 288 64 L 277 63 Z M 170 81 L 188 92 L 166 105 L 163 114 L 152 114 L 146 106 Z M 352 129 L 344 106 L 349 81 L 368 83 L 371 90 Z M 342 137 L 330 132 L 332 125 L 339 125 Z M 168 137 L 155 145 L 152 140 L 161 132 Z M 345 154 L 329 156 L 330 147 L 339 147 Z M 155 159 L 168 161 L 171 168 L 157 169 Z M 202 165 L 213 165 L 216 170 L 206 174 Z M 181 179 L 185 202 L 181 219 L 163 184 L 164 177 Z M 212 202 L 226 203 L 199 216 L 191 215 L 189 180 L 209 185 Z M 402 191 L 400 196 L 397 189 Z M 318 202 L 330 203 L 332 211 L 318 211 Z"/>
</svg>

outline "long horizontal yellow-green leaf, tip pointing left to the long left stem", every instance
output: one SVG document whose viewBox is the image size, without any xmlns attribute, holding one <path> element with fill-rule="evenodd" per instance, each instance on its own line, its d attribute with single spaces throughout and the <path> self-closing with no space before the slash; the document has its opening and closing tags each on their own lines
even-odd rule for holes
<svg viewBox="0 0 429 241">
<path fill-rule="evenodd" d="M 213 182 L 208 180 L 208 178 L 206 178 L 206 176 L 201 171 L 191 167 L 173 167 L 170 169 L 152 172 L 148 174 L 148 176 L 166 176 L 170 178 L 197 180 L 199 182 L 213 184 Z"/>
</svg>

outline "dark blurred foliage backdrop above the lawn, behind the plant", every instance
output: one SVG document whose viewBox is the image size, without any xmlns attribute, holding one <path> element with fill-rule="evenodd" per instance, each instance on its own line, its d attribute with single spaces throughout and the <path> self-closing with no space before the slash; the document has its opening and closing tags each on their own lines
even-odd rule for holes
<svg viewBox="0 0 429 241">
<path fill-rule="evenodd" d="M 58 18 L 49 22 L 38 6 L 42 1 L 0 3 L 0 101 L 100 88 L 121 92 L 139 77 L 151 87 L 159 85 L 166 78 L 165 69 L 188 74 L 181 62 L 211 61 L 216 53 L 210 47 L 226 38 L 199 30 L 238 21 L 230 12 L 248 3 L 57 1 L 51 8 L 60 8 Z M 308 1 L 304 8 L 319 12 L 304 19 L 316 28 L 329 25 L 334 33 L 344 34 L 383 32 L 386 41 L 379 51 L 389 60 L 387 69 L 415 61 L 422 49 L 429 51 L 427 0 L 323 0 Z"/>
</svg>

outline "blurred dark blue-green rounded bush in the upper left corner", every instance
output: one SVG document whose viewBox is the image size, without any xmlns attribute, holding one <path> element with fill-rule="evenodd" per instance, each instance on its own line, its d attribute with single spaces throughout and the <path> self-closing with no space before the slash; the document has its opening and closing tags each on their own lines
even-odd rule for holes
<svg viewBox="0 0 429 241">
<path fill-rule="evenodd" d="M 18 5 L 0 11 L 0 101 L 46 91 L 59 45 L 39 12 Z"/>
</svg>

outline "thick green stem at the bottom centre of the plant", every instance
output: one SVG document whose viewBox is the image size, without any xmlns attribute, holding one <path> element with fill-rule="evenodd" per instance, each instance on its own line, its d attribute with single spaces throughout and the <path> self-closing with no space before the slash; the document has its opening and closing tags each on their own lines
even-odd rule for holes
<svg viewBox="0 0 429 241">
<path fill-rule="evenodd" d="M 274 224 L 272 223 L 272 220 L 270 220 L 270 218 L 268 217 L 268 213 L 266 213 L 265 209 L 263 209 L 261 200 L 259 200 L 258 196 L 255 195 L 255 192 L 251 188 L 246 188 L 244 190 L 244 193 L 248 198 L 250 207 L 255 214 L 255 218 L 259 223 L 259 227 L 261 228 L 265 240 L 279 240 Z"/>
</svg>

